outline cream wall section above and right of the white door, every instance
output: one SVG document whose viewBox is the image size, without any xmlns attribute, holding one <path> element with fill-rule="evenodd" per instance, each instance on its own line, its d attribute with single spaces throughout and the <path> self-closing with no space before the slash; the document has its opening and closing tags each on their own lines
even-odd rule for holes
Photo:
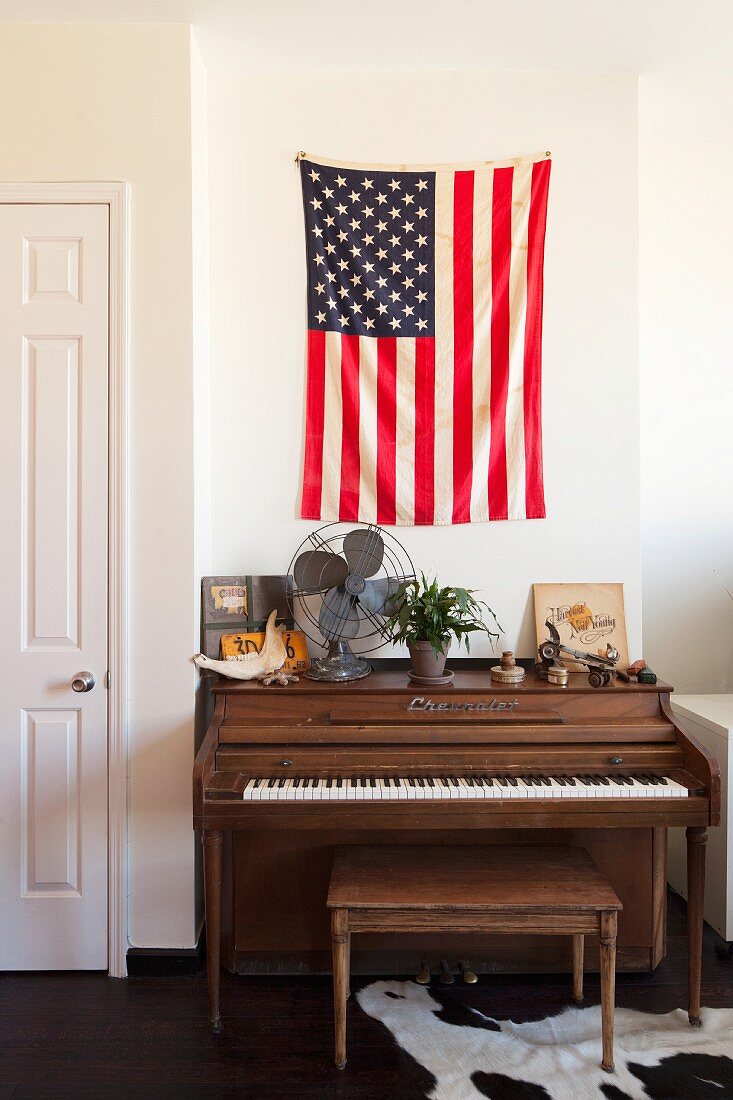
<svg viewBox="0 0 733 1100">
<path fill-rule="evenodd" d="M 132 189 L 130 937 L 195 943 L 187 26 L 0 29 L 0 178 Z"/>
</svg>

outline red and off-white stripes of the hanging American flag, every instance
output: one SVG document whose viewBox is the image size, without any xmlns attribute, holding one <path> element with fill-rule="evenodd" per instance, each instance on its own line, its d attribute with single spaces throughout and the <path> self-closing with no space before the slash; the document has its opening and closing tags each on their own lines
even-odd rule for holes
<svg viewBox="0 0 733 1100">
<path fill-rule="evenodd" d="M 545 516 L 549 174 L 545 154 L 435 169 L 435 337 L 308 332 L 304 519 Z"/>
</svg>

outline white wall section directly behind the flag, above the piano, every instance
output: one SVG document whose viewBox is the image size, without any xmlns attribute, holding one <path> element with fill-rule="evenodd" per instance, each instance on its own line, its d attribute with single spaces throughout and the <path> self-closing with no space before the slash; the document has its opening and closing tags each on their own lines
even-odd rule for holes
<svg viewBox="0 0 733 1100">
<path fill-rule="evenodd" d="M 533 581 L 623 581 L 641 652 L 636 78 L 209 74 L 217 571 L 284 571 L 305 341 L 297 150 L 372 162 L 553 151 L 545 298 L 546 520 L 398 528 L 418 566 L 484 591 L 534 650 Z M 483 652 L 480 645 L 477 652 Z"/>
</svg>

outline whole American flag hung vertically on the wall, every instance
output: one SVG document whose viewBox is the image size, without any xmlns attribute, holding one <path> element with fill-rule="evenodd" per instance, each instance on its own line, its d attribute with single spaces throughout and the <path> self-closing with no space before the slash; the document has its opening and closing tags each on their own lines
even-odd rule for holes
<svg viewBox="0 0 733 1100">
<path fill-rule="evenodd" d="M 545 516 L 549 154 L 427 168 L 302 155 L 304 519 Z"/>
</svg>

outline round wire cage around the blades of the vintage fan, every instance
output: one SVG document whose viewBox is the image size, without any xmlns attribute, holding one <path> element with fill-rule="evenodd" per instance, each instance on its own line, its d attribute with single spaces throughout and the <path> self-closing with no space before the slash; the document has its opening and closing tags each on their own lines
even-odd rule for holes
<svg viewBox="0 0 733 1100">
<path fill-rule="evenodd" d="M 335 521 L 332 524 L 326 524 L 324 527 L 319 527 L 315 531 L 311 531 L 297 548 L 293 554 L 291 564 L 288 565 L 287 572 L 289 580 L 287 603 L 296 626 L 303 630 L 310 641 L 320 646 L 322 649 L 328 648 L 329 639 L 325 638 L 320 631 L 318 615 L 320 613 L 320 607 L 324 603 L 326 592 L 329 591 L 331 585 L 318 588 L 314 586 L 313 590 L 296 588 L 294 587 L 293 569 L 300 554 L 305 553 L 307 550 L 325 551 L 346 560 L 343 554 L 343 540 L 347 535 L 353 530 L 373 531 L 382 539 L 384 547 L 382 564 L 376 573 L 368 578 L 369 581 L 394 581 L 395 584 L 401 584 L 403 581 L 409 581 L 416 576 L 413 560 L 403 544 L 398 542 L 393 535 L 390 535 L 389 531 L 385 531 L 383 528 L 378 527 L 374 524 L 344 524 L 342 521 Z M 320 571 L 321 576 L 326 566 L 324 565 Z M 313 600 L 317 603 L 315 613 L 308 605 L 308 600 Z M 376 650 L 382 649 L 384 646 L 391 645 L 391 639 L 382 636 L 382 626 L 386 616 L 378 612 L 369 610 L 355 598 L 352 600 L 351 606 L 355 607 L 359 613 L 359 630 L 353 638 L 344 640 L 348 640 L 349 645 L 353 647 L 354 652 L 373 653 Z M 304 619 L 315 627 L 315 637 L 305 626 Z M 362 627 L 365 625 L 371 625 L 372 629 L 366 631 L 362 630 Z M 379 644 L 372 644 L 366 647 L 363 646 L 364 641 L 369 641 L 370 638 L 374 638 L 376 636 L 382 637 L 382 640 Z"/>
</svg>

